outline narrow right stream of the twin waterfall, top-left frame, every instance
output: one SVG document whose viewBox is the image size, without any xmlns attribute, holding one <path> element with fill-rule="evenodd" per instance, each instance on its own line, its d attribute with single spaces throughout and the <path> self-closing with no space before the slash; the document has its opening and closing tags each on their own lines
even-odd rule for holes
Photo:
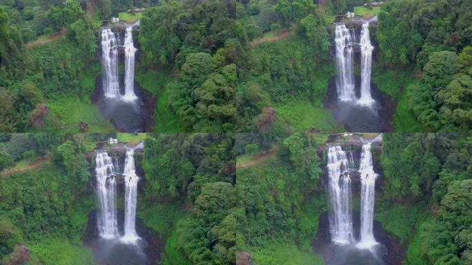
<svg viewBox="0 0 472 265">
<path fill-rule="evenodd" d="M 133 101 L 137 99 L 135 95 L 135 52 L 136 48 L 132 41 L 132 27 L 126 28 L 125 41 L 125 94 L 123 99 Z"/>
</svg>

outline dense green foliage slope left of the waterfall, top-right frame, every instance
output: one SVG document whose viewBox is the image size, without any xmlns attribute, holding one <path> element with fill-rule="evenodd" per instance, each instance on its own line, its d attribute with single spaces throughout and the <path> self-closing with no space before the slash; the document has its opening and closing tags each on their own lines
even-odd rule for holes
<svg viewBox="0 0 472 265">
<path fill-rule="evenodd" d="M 237 6 L 237 17 L 247 29 L 248 39 L 253 42 L 247 43 L 237 54 L 239 130 L 261 133 L 267 133 L 273 127 L 286 130 L 287 126 L 282 125 L 284 119 L 277 119 L 275 104 L 283 105 L 291 99 L 308 97 L 316 109 L 326 96 L 330 75 L 326 77 L 326 71 L 320 67 L 327 59 L 329 48 L 326 21 L 312 1 L 242 2 Z M 286 39 L 273 37 L 275 41 L 264 41 L 263 33 L 269 30 L 277 32 L 281 28 L 286 31 Z M 330 74 L 331 71 L 330 68 Z M 326 115 L 320 111 L 317 114 Z M 288 126 L 298 126 L 293 119 L 285 121 L 288 121 Z M 311 126 L 321 124 L 318 122 Z M 332 130 L 331 126 L 323 124 L 323 127 Z"/>
</svg>

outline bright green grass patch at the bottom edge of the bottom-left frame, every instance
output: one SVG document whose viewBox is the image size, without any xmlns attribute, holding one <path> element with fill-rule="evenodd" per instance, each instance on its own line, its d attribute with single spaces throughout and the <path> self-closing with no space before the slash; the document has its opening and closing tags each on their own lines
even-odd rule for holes
<svg viewBox="0 0 472 265">
<path fill-rule="evenodd" d="M 88 265 L 97 264 L 90 248 L 70 244 L 61 237 L 43 237 L 27 244 L 34 259 L 41 264 Z"/>
</svg>

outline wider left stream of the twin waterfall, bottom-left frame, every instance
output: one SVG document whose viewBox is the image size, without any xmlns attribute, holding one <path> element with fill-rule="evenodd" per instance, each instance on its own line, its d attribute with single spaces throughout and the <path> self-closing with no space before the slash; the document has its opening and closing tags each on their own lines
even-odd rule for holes
<svg viewBox="0 0 472 265">
<path fill-rule="evenodd" d="M 117 184 L 114 177 L 114 163 L 106 152 L 97 153 L 95 173 L 97 175 L 97 200 L 99 204 L 97 227 L 101 237 L 111 239 L 118 236 Z"/>
</svg>

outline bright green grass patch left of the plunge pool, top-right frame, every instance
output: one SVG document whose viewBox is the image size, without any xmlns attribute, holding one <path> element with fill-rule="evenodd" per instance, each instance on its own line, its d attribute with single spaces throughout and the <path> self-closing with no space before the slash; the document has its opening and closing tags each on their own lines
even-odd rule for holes
<svg viewBox="0 0 472 265">
<path fill-rule="evenodd" d="M 307 131 L 316 128 L 321 132 L 342 130 L 331 115 L 330 110 L 314 106 L 308 99 L 292 99 L 276 104 L 277 116 L 284 119 L 293 130 Z"/>
</svg>

